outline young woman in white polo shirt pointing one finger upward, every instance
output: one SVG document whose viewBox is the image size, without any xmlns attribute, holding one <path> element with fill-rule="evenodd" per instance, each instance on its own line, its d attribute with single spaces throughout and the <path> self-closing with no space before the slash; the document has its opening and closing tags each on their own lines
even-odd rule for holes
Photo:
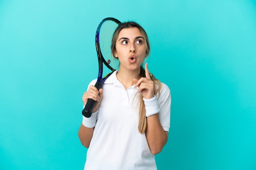
<svg viewBox="0 0 256 170">
<path fill-rule="evenodd" d="M 83 117 L 81 144 L 88 148 L 84 170 L 156 170 L 155 156 L 167 142 L 170 89 L 143 68 L 150 46 L 135 22 L 119 25 L 113 34 L 115 71 L 99 91 L 93 80 L 83 94 L 97 100 L 90 118 Z"/>
</svg>

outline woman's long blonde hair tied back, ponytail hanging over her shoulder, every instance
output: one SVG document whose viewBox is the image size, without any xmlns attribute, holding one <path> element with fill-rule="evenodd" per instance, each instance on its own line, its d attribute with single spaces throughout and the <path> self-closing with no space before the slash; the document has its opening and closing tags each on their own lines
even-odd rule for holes
<svg viewBox="0 0 256 170">
<path fill-rule="evenodd" d="M 137 24 L 136 22 L 124 22 L 124 23 L 121 23 L 117 27 L 117 29 L 113 33 L 112 43 L 111 43 L 111 52 L 112 52 L 113 56 L 114 56 L 114 53 L 116 51 L 116 41 L 117 41 L 117 37 L 118 37 L 120 31 L 124 28 L 134 28 L 134 27 L 139 28 L 141 34 L 145 38 L 146 54 L 148 56 L 149 51 L 150 51 L 148 35 L 147 35 L 146 31 L 139 24 Z M 141 77 L 146 77 L 145 69 L 142 66 L 140 67 L 139 78 L 141 78 Z M 155 76 L 153 76 L 153 74 L 150 74 L 150 78 L 151 78 L 152 81 L 154 81 L 154 94 L 156 95 L 157 93 L 159 93 L 159 91 L 161 89 L 161 82 L 158 79 L 156 79 Z M 139 125 L 138 125 L 138 130 L 139 130 L 139 133 L 142 134 L 147 129 L 147 118 L 146 118 L 146 109 L 145 109 L 143 96 L 141 94 L 139 94 L 139 95 L 140 96 L 139 96 Z"/>
</svg>

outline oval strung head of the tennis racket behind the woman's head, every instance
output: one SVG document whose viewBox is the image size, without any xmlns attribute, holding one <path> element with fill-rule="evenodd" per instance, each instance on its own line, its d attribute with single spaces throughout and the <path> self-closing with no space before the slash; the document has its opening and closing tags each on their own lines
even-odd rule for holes
<svg viewBox="0 0 256 170">
<path fill-rule="evenodd" d="M 99 69 L 103 69 L 102 63 L 112 72 L 119 68 L 119 60 L 112 56 L 111 52 L 112 35 L 119 24 L 121 24 L 119 20 L 113 17 L 107 17 L 101 21 L 97 28 L 96 49 L 99 59 Z"/>
</svg>

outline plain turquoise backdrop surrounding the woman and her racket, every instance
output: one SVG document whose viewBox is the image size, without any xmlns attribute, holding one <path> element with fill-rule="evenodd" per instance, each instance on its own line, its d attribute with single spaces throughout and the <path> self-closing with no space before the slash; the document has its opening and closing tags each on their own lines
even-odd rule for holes
<svg viewBox="0 0 256 170">
<path fill-rule="evenodd" d="M 82 95 L 105 17 L 141 24 L 172 94 L 159 170 L 256 169 L 253 0 L 0 0 L 0 170 L 83 169 Z"/>
</svg>

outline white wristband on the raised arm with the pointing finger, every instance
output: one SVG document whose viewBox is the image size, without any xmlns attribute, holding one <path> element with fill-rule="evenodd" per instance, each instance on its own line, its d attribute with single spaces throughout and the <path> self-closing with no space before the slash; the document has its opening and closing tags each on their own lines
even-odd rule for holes
<svg viewBox="0 0 256 170">
<path fill-rule="evenodd" d="M 158 106 L 157 97 L 154 95 L 153 98 L 146 99 L 143 98 L 145 109 L 146 109 L 146 117 L 152 116 L 160 111 Z"/>
</svg>

